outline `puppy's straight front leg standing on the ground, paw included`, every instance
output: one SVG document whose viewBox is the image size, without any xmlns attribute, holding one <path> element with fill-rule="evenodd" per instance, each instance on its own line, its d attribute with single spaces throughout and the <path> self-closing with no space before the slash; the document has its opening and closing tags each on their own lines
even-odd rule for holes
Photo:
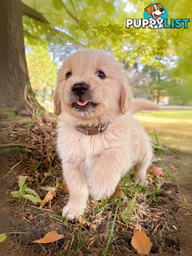
<svg viewBox="0 0 192 256">
<path fill-rule="evenodd" d="M 63 164 L 63 175 L 69 189 L 69 202 L 63 208 L 62 216 L 66 215 L 71 220 L 84 213 L 89 191 L 85 177 L 78 167 L 69 162 Z"/>
</svg>

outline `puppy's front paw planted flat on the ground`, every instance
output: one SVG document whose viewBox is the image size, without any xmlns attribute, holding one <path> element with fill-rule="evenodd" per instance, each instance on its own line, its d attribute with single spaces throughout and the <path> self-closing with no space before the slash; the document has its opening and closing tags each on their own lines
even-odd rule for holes
<svg viewBox="0 0 192 256">
<path fill-rule="evenodd" d="M 66 216 L 69 220 L 77 219 L 84 213 L 85 208 L 86 205 L 71 204 L 69 202 L 65 207 L 63 207 L 62 216 Z"/>
</svg>

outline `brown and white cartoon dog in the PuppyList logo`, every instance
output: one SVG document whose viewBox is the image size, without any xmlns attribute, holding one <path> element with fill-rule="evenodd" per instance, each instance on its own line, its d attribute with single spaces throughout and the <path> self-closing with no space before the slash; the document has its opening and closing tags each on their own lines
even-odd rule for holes
<svg viewBox="0 0 192 256">
<path fill-rule="evenodd" d="M 165 13 L 165 10 L 163 9 L 162 4 L 151 4 L 145 8 L 145 11 L 148 12 L 153 18 L 149 18 L 149 20 L 155 19 L 155 20 L 161 20 L 162 18 L 159 17 L 159 15 L 162 15 Z M 153 25 L 150 24 L 149 27 L 153 29 Z M 163 24 L 159 24 L 158 28 L 161 29 L 163 27 Z"/>
</svg>

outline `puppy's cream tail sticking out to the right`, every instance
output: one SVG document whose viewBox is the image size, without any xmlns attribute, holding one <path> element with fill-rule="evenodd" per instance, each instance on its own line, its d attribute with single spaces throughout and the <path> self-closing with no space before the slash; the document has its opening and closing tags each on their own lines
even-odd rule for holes
<svg viewBox="0 0 192 256">
<path fill-rule="evenodd" d="M 131 114 L 135 114 L 141 110 L 158 111 L 161 110 L 161 108 L 150 100 L 133 100 L 129 109 Z"/>
</svg>

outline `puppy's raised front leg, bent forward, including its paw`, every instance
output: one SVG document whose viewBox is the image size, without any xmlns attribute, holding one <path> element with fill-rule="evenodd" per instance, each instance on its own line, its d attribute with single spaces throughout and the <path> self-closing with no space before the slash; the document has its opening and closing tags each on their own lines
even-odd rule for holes
<svg viewBox="0 0 192 256">
<path fill-rule="evenodd" d="M 125 153 L 125 150 L 115 148 L 102 152 L 87 180 L 90 194 L 95 200 L 109 197 L 114 193 L 125 168 L 129 169 Z"/>
</svg>

